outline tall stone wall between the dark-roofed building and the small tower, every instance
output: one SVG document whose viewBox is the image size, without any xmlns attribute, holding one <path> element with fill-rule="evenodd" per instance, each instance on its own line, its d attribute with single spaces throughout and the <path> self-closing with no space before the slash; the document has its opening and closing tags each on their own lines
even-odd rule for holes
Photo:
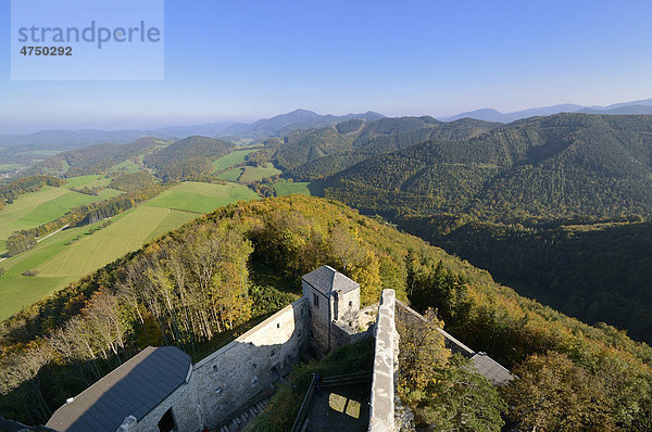
<svg viewBox="0 0 652 432">
<path fill-rule="evenodd" d="M 309 339 L 308 298 L 301 297 L 192 366 L 186 384 L 129 430 L 158 430 L 170 408 L 180 431 L 215 425 L 289 372 Z"/>
</svg>

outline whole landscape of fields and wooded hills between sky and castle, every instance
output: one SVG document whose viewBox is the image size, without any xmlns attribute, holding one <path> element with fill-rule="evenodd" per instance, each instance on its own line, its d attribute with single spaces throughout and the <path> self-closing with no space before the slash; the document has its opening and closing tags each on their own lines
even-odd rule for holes
<svg viewBox="0 0 652 432">
<path fill-rule="evenodd" d="M 637 341 L 650 342 L 652 325 L 652 118 L 353 118 L 285 134 L 91 145 L 5 180 L 0 240 L 34 243 L 0 262 L 0 351 L 24 363 L 50 350 L 53 331 L 77 340 L 120 312 L 115 354 L 152 341 L 209 352 L 294 300 L 298 275 L 333 264 L 360 282 L 363 305 L 393 289 L 510 368 L 547 353 L 586 374 L 587 392 L 610 386 L 609 406 L 648 385 L 652 354 Z M 204 280 L 206 265 L 217 272 Z M 179 333 L 185 314 L 212 321 Z M 41 391 L 61 403 L 95 368 L 115 367 L 102 343 L 91 348 L 102 360 L 68 353 L 61 370 L 39 372 Z M 80 380 L 70 368 L 83 357 L 96 366 Z M 613 368 L 627 378 L 601 372 Z M 21 392 L 0 408 L 25 419 Z M 498 410 L 501 397 L 515 403 L 505 392 L 492 396 Z M 600 421 L 648 412 L 627 409 Z"/>
</svg>

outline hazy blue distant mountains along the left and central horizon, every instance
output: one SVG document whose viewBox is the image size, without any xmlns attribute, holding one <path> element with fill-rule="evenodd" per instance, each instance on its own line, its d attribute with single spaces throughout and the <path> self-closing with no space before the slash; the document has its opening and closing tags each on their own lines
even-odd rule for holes
<svg viewBox="0 0 652 432">
<path fill-rule="evenodd" d="M 193 126 L 170 126 L 150 130 L 41 130 L 27 135 L 0 135 L 0 147 L 38 145 L 40 148 L 63 151 L 106 142 L 131 142 L 143 137 L 185 138 L 195 135 L 212 138 L 231 136 L 259 139 L 281 137 L 298 129 L 333 126 L 349 119 L 372 122 L 383 117 L 385 116 L 372 111 L 363 114 L 338 116 L 331 114 L 322 115 L 308 110 L 296 110 L 291 113 L 250 124 L 223 122 Z"/>
</svg>

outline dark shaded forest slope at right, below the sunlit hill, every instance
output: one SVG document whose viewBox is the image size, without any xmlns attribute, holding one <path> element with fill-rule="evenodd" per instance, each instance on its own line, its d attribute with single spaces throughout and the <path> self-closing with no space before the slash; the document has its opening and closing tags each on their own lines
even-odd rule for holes
<svg viewBox="0 0 652 432">
<path fill-rule="evenodd" d="M 652 342 L 652 224 L 565 220 L 531 226 L 460 216 L 406 217 L 401 227 L 488 269 L 523 295 Z"/>
</svg>

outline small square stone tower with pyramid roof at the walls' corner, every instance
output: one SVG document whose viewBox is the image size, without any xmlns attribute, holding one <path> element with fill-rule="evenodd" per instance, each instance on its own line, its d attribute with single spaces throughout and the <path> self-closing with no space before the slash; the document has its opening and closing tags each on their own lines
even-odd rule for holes
<svg viewBox="0 0 652 432">
<path fill-rule="evenodd" d="M 330 266 L 309 272 L 301 283 L 310 304 L 312 344 L 323 356 L 358 332 L 360 284 Z"/>
</svg>

